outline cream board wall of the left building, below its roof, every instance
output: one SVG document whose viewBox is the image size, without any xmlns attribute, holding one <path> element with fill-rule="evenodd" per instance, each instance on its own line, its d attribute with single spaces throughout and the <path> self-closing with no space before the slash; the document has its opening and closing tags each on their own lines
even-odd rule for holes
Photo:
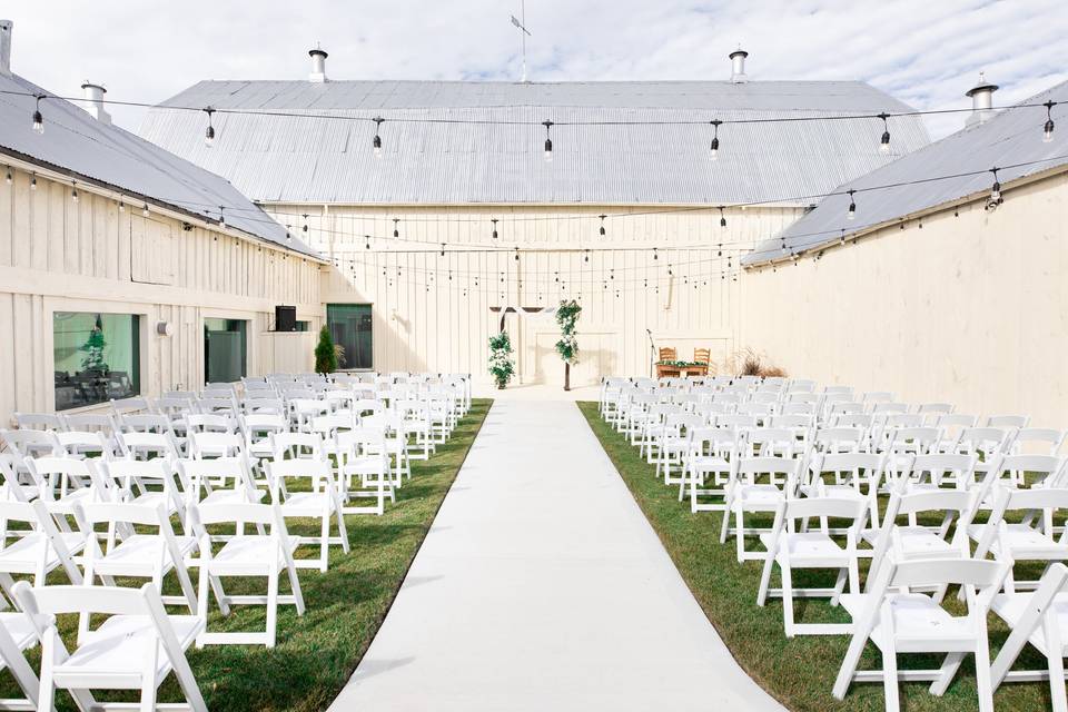
<svg viewBox="0 0 1068 712">
<path fill-rule="evenodd" d="M 275 369 L 264 344 L 277 304 L 318 328 L 320 267 L 286 250 L 139 209 L 116 196 L 70 186 L 12 162 L 0 181 L 0 424 L 16 411 L 55 403 L 52 315 L 105 312 L 141 316 L 141 392 L 157 395 L 204 377 L 204 318 L 249 320 L 248 370 Z M 174 326 L 170 337 L 156 324 Z M 290 359 L 291 360 L 291 359 Z"/>
</svg>

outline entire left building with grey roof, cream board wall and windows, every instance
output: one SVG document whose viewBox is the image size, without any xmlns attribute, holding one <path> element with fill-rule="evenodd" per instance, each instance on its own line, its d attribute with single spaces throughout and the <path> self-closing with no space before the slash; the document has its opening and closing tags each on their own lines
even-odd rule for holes
<svg viewBox="0 0 1068 712">
<path fill-rule="evenodd" d="M 308 368 L 313 334 L 270 329 L 276 305 L 322 324 L 325 263 L 102 102 L 12 75 L 11 37 L 0 21 L 0 424 Z"/>
</svg>

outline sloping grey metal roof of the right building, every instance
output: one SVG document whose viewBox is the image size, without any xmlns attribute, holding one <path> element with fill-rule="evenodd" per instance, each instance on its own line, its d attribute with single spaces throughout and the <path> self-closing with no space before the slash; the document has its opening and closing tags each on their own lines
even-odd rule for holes
<svg viewBox="0 0 1068 712">
<path fill-rule="evenodd" d="M 873 226 L 893 222 L 908 215 L 989 191 L 993 175 L 988 171 L 993 167 L 1010 166 L 998 169 L 998 179 L 1007 184 L 1068 164 L 1068 82 L 1057 85 L 1020 103 L 1044 103 L 1049 100 L 1060 102 L 1051 111 L 1058 129 L 1050 142 L 1042 141 L 1045 107 L 1000 111 L 985 123 L 972 125 L 951 134 L 856 180 L 838 186 L 835 194 L 858 191 L 854 196 L 854 219 L 847 219 L 849 195 L 828 196 L 781 236 L 759 244 L 742 259 L 742 264 L 753 265 L 788 258 L 791 254 L 838 241 L 843 236 L 849 238 L 850 235 Z M 930 180 L 948 176 L 953 177 Z M 924 182 L 871 189 L 917 180 Z"/>
</svg>

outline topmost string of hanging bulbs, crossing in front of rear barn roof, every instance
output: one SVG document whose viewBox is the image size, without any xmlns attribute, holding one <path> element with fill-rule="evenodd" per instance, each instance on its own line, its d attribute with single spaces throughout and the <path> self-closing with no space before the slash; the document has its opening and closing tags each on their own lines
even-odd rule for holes
<svg viewBox="0 0 1068 712">
<path fill-rule="evenodd" d="M 66 97 L 59 95 L 51 95 L 44 92 L 32 92 L 26 90 L 16 90 L 16 89 L 2 89 L 0 93 L 10 95 L 10 96 L 21 96 L 34 99 L 34 108 L 31 115 L 30 126 L 33 131 L 37 134 L 44 132 L 44 113 L 41 111 L 41 102 L 46 100 L 59 100 L 59 101 L 71 101 L 71 102 L 101 102 L 105 105 L 111 106 L 121 106 L 121 107 L 138 107 L 138 108 L 148 108 L 148 109 L 166 109 L 170 111 L 196 111 L 202 112 L 206 116 L 207 126 L 205 128 L 204 141 L 205 145 L 209 148 L 215 145 L 216 140 L 216 129 L 214 125 L 215 115 L 234 115 L 234 116 L 257 116 L 257 117 L 276 117 L 276 118 L 303 118 L 303 119 L 324 119 L 324 120 L 334 120 L 334 121 L 356 121 L 356 122 L 368 122 L 374 123 L 374 136 L 370 139 L 370 148 L 374 155 L 377 158 L 383 156 L 383 138 L 382 138 L 382 127 L 384 123 L 431 123 L 431 125 L 485 125 L 485 126 L 544 126 L 545 127 L 545 142 L 544 157 L 546 161 L 552 161 L 553 159 L 553 140 L 552 140 L 552 128 L 563 127 L 563 126 L 709 126 L 712 130 L 712 138 L 710 141 L 709 156 L 712 160 L 716 160 L 720 156 L 721 148 L 721 127 L 729 127 L 732 125 L 762 125 L 762 123 L 792 123 L 792 122 L 807 122 L 807 121 L 881 121 L 882 122 L 882 134 L 879 138 L 879 151 L 882 154 L 889 154 L 891 150 L 890 147 L 890 126 L 888 123 L 891 118 L 903 118 L 903 117 L 923 117 L 923 116 L 945 116 L 952 113 L 961 112 L 971 112 L 970 108 L 962 109 L 912 109 L 907 111 L 860 111 L 851 113 L 830 113 L 830 115 L 799 115 L 799 116 L 777 116 L 777 117 L 751 117 L 751 118 L 719 118 L 713 116 L 711 119 L 572 119 L 572 120 L 536 120 L 536 119 L 492 119 L 492 118 L 455 118 L 455 117 L 412 117 L 412 116 L 393 116 L 393 117 L 383 117 L 380 113 L 376 116 L 360 116 L 360 115 L 350 115 L 350 113 L 333 113 L 329 111 L 281 111 L 274 109 L 233 109 L 233 108 L 220 108 L 220 107 L 194 107 L 194 106 L 184 106 L 184 105 L 158 105 L 145 101 L 123 101 L 118 99 L 86 99 L 85 97 Z M 1020 110 L 1020 109 L 1034 109 L 1034 108 L 1045 108 L 1046 109 L 1046 122 L 1042 125 L 1042 140 L 1049 142 L 1052 140 L 1054 130 L 1056 125 L 1052 118 L 1054 107 L 1062 103 L 1061 101 L 1042 101 L 1042 102 L 1018 102 L 1008 105 L 1006 107 L 999 107 L 999 110 Z"/>
</svg>

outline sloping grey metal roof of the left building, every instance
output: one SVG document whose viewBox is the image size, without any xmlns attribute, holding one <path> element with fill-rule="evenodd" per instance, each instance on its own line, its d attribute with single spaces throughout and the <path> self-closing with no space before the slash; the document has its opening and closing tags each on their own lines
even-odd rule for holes
<svg viewBox="0 0 1068 712">
<path fill-rule="evenodd" d="M 33 97 L 0 93 L 0 152 L 69 172 L 76 180 L 128 191 L 130 198 L 139 196 L 200 217 L 217 220 L 219 206 L 226 206 L 228 227 L 318 257 L 297 237 L 287 240 L 286 228 L 225 178 L 118 126 L 98 121 L 83 109 L 49 95 L 22 77 L 0 75 L 0 89 L 49 97 L 41 101 L 44 132 L 38 135 L 30 128 L 36 106 Z"/>
</svg>

